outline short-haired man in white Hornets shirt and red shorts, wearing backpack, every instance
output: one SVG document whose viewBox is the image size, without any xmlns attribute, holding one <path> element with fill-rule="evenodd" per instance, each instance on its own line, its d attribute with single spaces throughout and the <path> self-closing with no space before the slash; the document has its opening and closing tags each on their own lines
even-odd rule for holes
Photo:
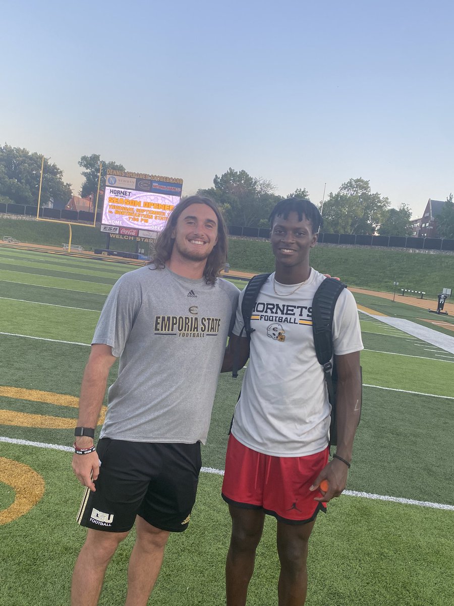
<svg viewBox="0 0 454 606">
<path fill-rule="evenodd" d="M 353 296 L 341 287 L 317 304 L 327 307 L 322 318 L 332 311 L 338 376 L 337 449 L 328 462 L 331 364 L 320 364 L 312 333 L 312 302 L 325 277 L 309 265 L 321 216 L 311 202 L 289 198 L 278 202 L 270 223 L 275 272 L 252 308 L 250 342 L 242 331 L 245 291 L 240 295 L 223 364 L 223 371 L 231 369 L 235 357 L 241 368 L 250 356 L 222 488 L 232 518 L 227 606 L 246 604 L 265 514 L 277 518 L 278 604 L 303 606 L 309 536 L 318 511 L 345 488 L 361 411 L 360 324 Z"/>
</svg>

